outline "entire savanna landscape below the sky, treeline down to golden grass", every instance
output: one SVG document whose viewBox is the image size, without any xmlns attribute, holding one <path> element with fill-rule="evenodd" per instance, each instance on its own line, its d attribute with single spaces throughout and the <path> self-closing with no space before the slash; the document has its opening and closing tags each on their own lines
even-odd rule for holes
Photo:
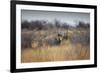
<svg viewBox="0 0 100 73">
<path fill-rule="evenodd" d="M 54 20 L 23 21 L 21 62 L 86 60 L 90 58 L 90 24 L 76 26 Z"/>
</svg>

